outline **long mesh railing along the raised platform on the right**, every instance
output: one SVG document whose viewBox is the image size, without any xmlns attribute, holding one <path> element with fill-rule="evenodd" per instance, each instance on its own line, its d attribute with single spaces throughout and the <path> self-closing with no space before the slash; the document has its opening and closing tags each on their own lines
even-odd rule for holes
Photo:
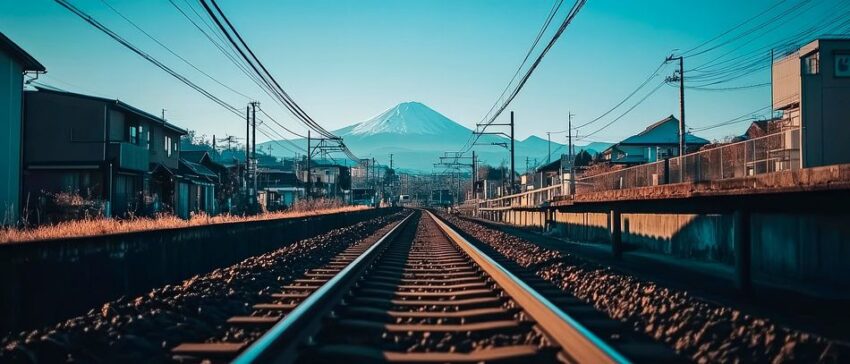
<svg viewBox="0 0 850 364">
<path fill-rule="evenodd" d="M 799 169 L 800 136 L 800 128 L 788 129 L 682 157 L 578 178 L 575 193 L 713 181 Z M 569 194 L 567 183 L 482 201 L 479 208 L 540 206 L 564 194 Z"/>
</svg>

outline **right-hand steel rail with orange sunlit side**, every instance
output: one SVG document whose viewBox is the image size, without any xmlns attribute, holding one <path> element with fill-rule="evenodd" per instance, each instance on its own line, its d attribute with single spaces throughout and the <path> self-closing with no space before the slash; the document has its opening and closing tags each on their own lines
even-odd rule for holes
<svg viewBox="0 0 850 364">
<path fill-rule="evenodd" d="M 629 363 L 622 354 L 472 245 L 436 215 L 427 211 L 445 235 L 485 271 L 571 359 L 578 363 Z"/>
</svg>

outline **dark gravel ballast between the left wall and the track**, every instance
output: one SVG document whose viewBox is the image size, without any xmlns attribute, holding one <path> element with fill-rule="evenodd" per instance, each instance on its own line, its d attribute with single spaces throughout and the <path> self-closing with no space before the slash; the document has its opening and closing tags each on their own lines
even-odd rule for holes
<svg viewBox="0 0 850 364">
<path fill-rule="evenodd" d="M 335 229 L 144 296 L 122 297 L 51 327 L 9 335 L 2 340 L 0 362 L 169 361 L 172 347 L 224 335 L 229 317 L 249 313 L 295 276 L 357 241 L 375 238 L 402 216 Z"/>
</svg>

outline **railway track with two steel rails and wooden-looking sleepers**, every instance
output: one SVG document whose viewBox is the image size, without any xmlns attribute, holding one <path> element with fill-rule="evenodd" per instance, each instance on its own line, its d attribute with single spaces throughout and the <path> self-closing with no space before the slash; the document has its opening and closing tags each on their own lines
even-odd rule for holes
<svg viewBox="0 0 850 364">
<path fill-rule="evenodd" d="M 228 320 L 239 340 L 184 343 L 174 359 L 628 361 L 429 212 L 305 272 L 254 310 Z"/>
</svg>

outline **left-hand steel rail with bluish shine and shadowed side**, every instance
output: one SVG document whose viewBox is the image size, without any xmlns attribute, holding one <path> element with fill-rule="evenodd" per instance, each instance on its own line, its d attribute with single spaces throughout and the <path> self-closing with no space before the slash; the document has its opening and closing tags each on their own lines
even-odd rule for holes
<svg viewBox="0 0 850 364">
<path fill-rule="evenodd" d="M 379 255 L 381 249 L 396 237 L 413 215 L 415 213 L 405 217 L 362 255 L 348 264 L 339 274 L 310 294 L 292 312 L 284 316 L 282 320 L 245 349 L 233 360 L 233 363 L 292 361 L 294 359 L 294 353 L 290 352 L 290 350 L 293 350 L 292 344 L 299 342 L 299 337 L 308 334 L 309 330 L 307 329 L 316 317 L 322 316 L 337 304 L 338 298 L 349 291 L 351 285 L 360 278 L 363 271 Z"/>
</svg>

